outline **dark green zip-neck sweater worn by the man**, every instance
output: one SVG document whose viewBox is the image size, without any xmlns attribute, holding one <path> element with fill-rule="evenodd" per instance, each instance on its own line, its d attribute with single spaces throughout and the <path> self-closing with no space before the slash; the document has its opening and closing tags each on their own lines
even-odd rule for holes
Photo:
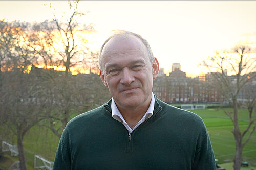
<svg viewBox="0 0 256 170">
<path fill-rule="evenodd" d="M 129 136 L 112 118 L 111 100 L 73 118 L 62 133 L 54 170 L 216 169 L 202 119 L 155 100 L 153 116 Z"/>
</svg>

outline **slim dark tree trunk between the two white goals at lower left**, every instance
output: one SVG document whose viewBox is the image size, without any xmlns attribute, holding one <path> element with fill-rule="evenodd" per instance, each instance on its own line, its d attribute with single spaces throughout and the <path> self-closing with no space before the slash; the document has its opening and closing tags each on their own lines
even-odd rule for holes
<svg viewBox="0 0 256 170">
<path fill-rule="evenodd" d="M 18 130 L 18 133 L 17 133 L 17 146 L 18 146 L 18 158 L 20 162 L 20 169 L 27 170 L 24 145 L 23 145 L 23 134 L 20 132 L 20 130 Z"/>
</svg>

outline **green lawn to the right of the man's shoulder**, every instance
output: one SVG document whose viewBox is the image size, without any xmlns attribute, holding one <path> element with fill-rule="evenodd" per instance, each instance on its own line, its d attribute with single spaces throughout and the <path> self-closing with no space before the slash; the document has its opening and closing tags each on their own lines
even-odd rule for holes
<svg viewBox="0 0 256 170">
<path fill-rule="evenodd" d="M 211 139 L 215 157 L 219 160 L 219 163 L 232 162 L 236 146 L 233 134 L 231 133 L 233 129 L 231 119 L 224 114 L 223 110 L 206 109 L 193 110 L 193 112 L 203 118 Z M 245 109 L 239 110 L 239 125 L 241 130 L 244 130 L 248 125 L 247 116 L 248 114 Z M 245 137 L 247 136 L 248 134 Z M 250 165 L 256 166 L 256 132 L 243 149 L 242 158 L 249 162 Z"/>
</svg>

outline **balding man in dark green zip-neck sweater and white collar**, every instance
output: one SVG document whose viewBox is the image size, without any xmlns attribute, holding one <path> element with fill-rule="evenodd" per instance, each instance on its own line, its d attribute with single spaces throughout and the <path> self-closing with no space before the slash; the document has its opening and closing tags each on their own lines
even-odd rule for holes
<svg viewBox="0 0 256 170">
<path fill-rule="evenodd" d="M 68 123 L 53 169 L 216 169 L 202 119 L 152 93 L 159 63 L 145 39 L 118 31 L 99 63 L 112 99 Z"/>
</svg>

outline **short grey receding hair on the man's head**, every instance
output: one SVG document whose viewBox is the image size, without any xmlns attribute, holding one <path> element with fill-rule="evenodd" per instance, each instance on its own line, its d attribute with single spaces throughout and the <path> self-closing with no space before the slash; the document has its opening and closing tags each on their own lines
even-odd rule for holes
<svg viewBox="0 0 256 170">
<path fill-rule="evenodd" d="M 103 54 L 102 54 L 102 50 L 105 46 L 105 44 L 114 37 L 123 37 L 126 38 L 129 35 L 133 35 L 135 37 L 138 37 L 142 43 L 146 46 L 147 48 L 147 53 L 148 53 L 148 59 L 150 59 L 150 62 L 153 63 L 154 61 L 154 55 L 153 52 L 151 50 L 150 44 L 147 42 L 147 40 L 145 40 L 144 38 L 142 38 L 139 34 L 135 34 L 133 32 L 130 31 L 125 31 L 125 30 L 113 30 L 114 34 L 112 34 L 108 39 L 105 40 L 105 42 L 103 43 L 103 45 L 100 48 L 100 53 L 99 53 L 99 69 L 102 70 L 102 59 L 103 59 Z"/>
</svg>

